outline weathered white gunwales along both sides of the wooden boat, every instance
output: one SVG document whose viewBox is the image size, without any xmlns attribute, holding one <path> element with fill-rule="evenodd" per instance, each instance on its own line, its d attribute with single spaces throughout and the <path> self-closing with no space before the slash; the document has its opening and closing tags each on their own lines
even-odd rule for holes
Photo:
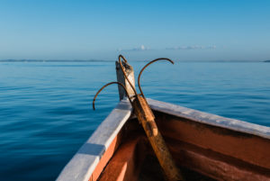
<svg viewBox="0 0 270 181">
<path fill-rule="evenodd" d="M 180 105 L 168 104 L 153 99 L 148 99 L 148 104 L 157 112 L 270 139 L 270 128 L 266 126 L 225 118 L 211 113 L 203 113 Z M 71 158 L 67 166 L 61 171 L 57 180 L 89 180 L 100 158 L 103 157 L 103 153 L 108 149 L 119 131 L 121 131 L 125 122 L 129 120 L 131 111 L 130 103 L 127 100 L 121 100 L 112 110 L 112 113 L 107 116 L 92 136 L 76 152 L 76 155 Z"/>
</svg>

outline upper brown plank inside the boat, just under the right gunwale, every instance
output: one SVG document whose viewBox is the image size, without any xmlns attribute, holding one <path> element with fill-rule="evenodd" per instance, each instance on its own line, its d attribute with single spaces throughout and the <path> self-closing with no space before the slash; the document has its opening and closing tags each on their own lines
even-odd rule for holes
<svg viewBox="0 0 270 181">
<path fill-rule="evenodd" d="M 163 113 L 157 114 L 157 126 L 165 139 L 175 143 L 185 142 L 270 169 L 268 139 Z"/>
</svg>

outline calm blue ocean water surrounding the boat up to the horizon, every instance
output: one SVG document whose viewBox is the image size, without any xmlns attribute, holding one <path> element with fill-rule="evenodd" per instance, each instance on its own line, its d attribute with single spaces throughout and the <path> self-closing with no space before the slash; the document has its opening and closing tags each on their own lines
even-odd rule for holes
<svg viewBox="0 0 270 181">
<path fill-rule="evenodd" d="M 146 62 L 130 62 L 138 76 Z M 54 180 L 118 103 L 114 62 L 0 63 L 0 180 Z M 157 62 L 144 94 L 270 126 L 270 64 Z"/>
</svg>

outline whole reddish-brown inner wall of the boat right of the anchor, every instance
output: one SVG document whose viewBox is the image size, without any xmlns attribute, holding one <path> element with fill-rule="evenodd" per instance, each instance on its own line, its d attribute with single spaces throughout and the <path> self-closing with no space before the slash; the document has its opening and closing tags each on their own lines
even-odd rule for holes
<svg viewBox="0 0 270 181">
<path fill-rule="evenodd" d="M 218 180 L 270 180 L 270 140 L 155 114 L 178 164 Z"/>
</svg>

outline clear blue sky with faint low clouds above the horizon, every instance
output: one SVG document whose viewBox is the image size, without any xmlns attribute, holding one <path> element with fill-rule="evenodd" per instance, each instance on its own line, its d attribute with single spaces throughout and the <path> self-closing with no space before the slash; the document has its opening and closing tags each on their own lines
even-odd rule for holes
<svg viewBox="0 0 270 181">
<path fill-rule="evenodd" d="M 0 59 L 270 59 L 270 1 L 0 0 Z"/>
</svg>

